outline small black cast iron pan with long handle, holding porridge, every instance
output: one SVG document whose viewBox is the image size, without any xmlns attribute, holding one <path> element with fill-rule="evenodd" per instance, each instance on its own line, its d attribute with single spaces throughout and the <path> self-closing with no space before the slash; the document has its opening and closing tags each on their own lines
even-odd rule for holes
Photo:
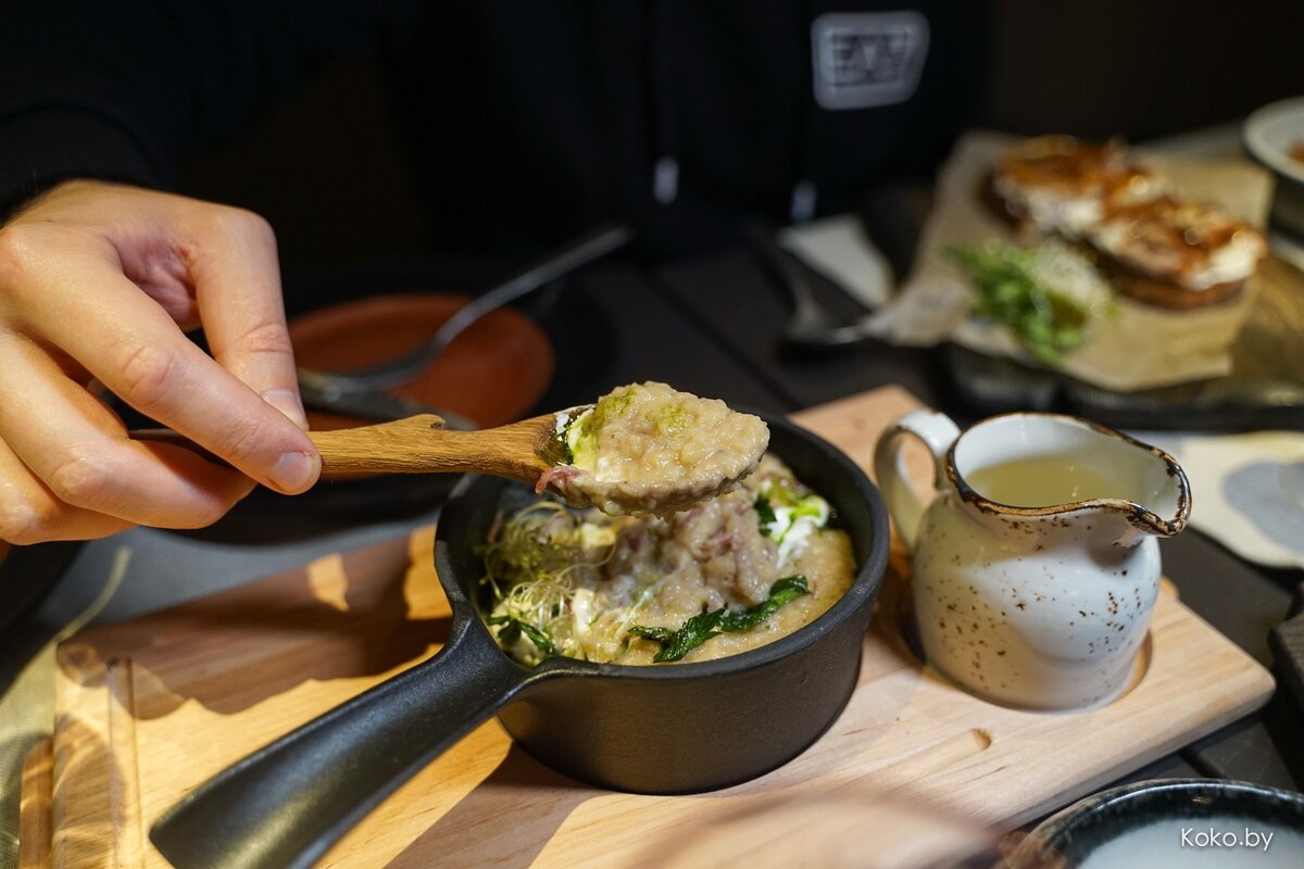
<svg viewBox="0 0 1304 869">
<path fill-rule="evenodd" d="M 434 563 L 452 605 L 443 650 L 209 780 L 150 831 L 179 869 L 306 869 L 386 795 L 497 714 L 533 757 L 576 779 L 689 793 L 792 760 L 842 710 L 888 555 L 878 490 L 836 447 L 769 417 L 771 451 L 823 494 L 849 533 L 857 576 L 814 623 L 703 663 L 617 666 L 507 658 L 472 603 L 476 546 L 520 485 L 468 477 L 445 506 Z M 666 727 L 666 722 L 675 722 Z"/>
</svg>

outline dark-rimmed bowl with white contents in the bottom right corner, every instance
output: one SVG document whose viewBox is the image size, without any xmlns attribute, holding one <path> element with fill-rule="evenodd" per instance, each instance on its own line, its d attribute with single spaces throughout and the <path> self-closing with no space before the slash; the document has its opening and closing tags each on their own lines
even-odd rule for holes
<svg viewBox="0 0 1304 869">
<path fill-rule="evenodd" d="M 1121 839 L 1148 827 L 1153 838 Z M 1251 842 L 1251 834 L 1273 839 Z M 1148 844 L 1155 849 L 1142 851 Z M 1106 847 L 1112 849 L 1102 851 Z M 1102 865 L 1176 866 L 1213 859 L 1196 865 L 1304 866 L 1304 793 L 1226 779 L 1124 784 L 1042 822 L 1003 866 L 1068 869 L 1093 855 Z M 1237 856 L 1243 862 L 1231 862 Z"/>
</svg>

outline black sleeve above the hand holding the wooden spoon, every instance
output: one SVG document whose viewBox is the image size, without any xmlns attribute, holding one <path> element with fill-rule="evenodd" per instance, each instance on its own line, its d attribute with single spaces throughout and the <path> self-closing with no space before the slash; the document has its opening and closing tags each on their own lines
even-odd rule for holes
<svg viewBox="0 0 1304 869">
<path fill-rule="evenodd" d="M 0 26 L 0 208 L 69 177 L 168 188 L 183 160 L 417 4 L 23 0 Z"/>
</svg>

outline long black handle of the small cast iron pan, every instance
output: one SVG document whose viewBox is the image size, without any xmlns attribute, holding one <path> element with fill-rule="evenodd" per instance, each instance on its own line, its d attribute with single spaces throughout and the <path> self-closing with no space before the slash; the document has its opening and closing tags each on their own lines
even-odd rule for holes
<svg viewBox="0 0 1304 869">
<path fill-rule="evenodd" d="M 308 869 L 381 800 L 532 681 L 454 616 L 445 648 L 219 773 L 150 839 L 177 869 Z"/>
</svg>

